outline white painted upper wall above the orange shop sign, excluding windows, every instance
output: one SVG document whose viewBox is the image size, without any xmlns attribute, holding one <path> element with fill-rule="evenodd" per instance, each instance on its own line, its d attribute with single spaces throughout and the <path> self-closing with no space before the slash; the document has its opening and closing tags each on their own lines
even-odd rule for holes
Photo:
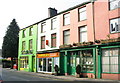
<svg viewBox="0 0 120 83">
<path fill-rule="evenodd" d="M 51 30 L 51 19 L 56 18 L 57 20 L 57 28 L 54 30 Z M 54 49 L 59 49 L 60 46 L 60 25 L 59 25 L 59 15 L 47 19 L 44 22 L 46 22 L 46 32 L 41 33 L 41 23 L 38 24 L 38 46 L 37 46 L 37 51 L 45 51 L 45 50 L 54 50 Z M 55 48 L 51 48 L 51 34 L 56 33 L 56 47 Z M 48 40 L 49 41 L 49 45 L 45 45 L 45 49 L 41 49 L 41 36 L 45 36 L 45 41 Z"/>
</svg>

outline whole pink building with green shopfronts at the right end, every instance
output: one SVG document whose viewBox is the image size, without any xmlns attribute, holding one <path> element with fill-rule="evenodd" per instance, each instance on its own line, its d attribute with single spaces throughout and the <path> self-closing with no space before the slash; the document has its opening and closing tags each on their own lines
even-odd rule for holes
<svg viewBox="0 0 120 83">
<path fill-rule="evenodd" d="M 60 13 L 62 73 L 76 75 L 75 67 L 80 65 L 83 77 L 120 80 L 120 6 L 118 4 L 120 0 L 93 0 Z M 96 42 L 96 40 L 115 38 L 119 41 L 107 42 L 107 44 Z M 74 45 L 83 42 L 93 42 L 93 45 Z M 64 48 L 65 45 L 70 47 Z"/>
</svg>

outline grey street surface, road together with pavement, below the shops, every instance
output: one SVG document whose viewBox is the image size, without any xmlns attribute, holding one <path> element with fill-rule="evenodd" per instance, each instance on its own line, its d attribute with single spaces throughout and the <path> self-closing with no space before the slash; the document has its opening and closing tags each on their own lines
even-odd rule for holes
<svg viewBox="0 0 120 83">
<path fill-rule="evenodd" d="M 39 73 L 21 72 L 17 70 L 5 69 L 2 70 L 3 83 L 120 83 L 120 81 L 112 80 L 96 80 L 96 79 L 72 79 L 73 77 L 66 76 L 42 75 Z M 61 78 L 62 77 L 62 78 Z M 63 79 L 66 78 L 66 79 Z"/>
</svg>

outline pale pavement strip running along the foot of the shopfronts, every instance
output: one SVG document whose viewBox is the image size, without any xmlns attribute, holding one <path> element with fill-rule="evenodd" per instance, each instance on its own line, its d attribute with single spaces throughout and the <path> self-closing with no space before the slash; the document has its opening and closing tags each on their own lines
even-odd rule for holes
<svg viewBox="0 0 120 83">
<path fill-rule="evenodd" d="M 93 82 L 117 82 L 120 83 L 120 81 L 118 80 L 108 80 L 108 79 L 93 79 L 93 78 L 76 78 L 75 76 L 64 76 L 64 75 L 59 75 L 59 76 L 55 76 L 55 75 L 51 75 L 51 74 L 44 74 L 44 73 L 36 73 L 36 72 L 26 72 L 26 71 L 18 71 L 16 69 L 10 69 L 10 68 L 5 68 L 9 71 L 15 71 L 15 72 L 20 72 L 23 74 L 31 74 L 31 75 L 37 75 L 40 77 L 45 77 L 45 78 L 53 78 L 53 79 L 63 79 L 66 81 L 93 81 Z"/>
</svg>

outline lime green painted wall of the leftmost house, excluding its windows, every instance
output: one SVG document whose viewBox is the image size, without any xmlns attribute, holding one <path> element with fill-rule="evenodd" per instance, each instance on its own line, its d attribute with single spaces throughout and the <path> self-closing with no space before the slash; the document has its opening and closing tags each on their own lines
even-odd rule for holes
<svg viewBox="0 0 120 83">
<path fill-rule="evenodd" d="M 29 69 L 28 71 L 32 71 L 32 56 L 35 56 L 35 65 L 36 65 L 36 49 L 37 49 L 37 25 L 33 25 L 33 35 L 29 36 L 29 28 L 25 28 L 23 30 L 26 30 L 26 37 L 22 38 L 22 34 L 23 34 L 23 30 L 21 30 L 19 32 L 19 53 L 18 53 L 18 69 L 20 68 L 20 57 L 22 56 L 28 56 L 29 57 Z M 33 45 L 32 45 L 32 49 L 33 49 L 33 53 L 32 54 L 22 54 L 22 42 L 25 41 L 26 42 L 26 48 L 25 50 L 29 51 L 29 40 L 33 40 Z M 36 69 L 36 68 L 35 68 Z M 36 70 L 34 70 L 36 71 Z"/>
</svg>

